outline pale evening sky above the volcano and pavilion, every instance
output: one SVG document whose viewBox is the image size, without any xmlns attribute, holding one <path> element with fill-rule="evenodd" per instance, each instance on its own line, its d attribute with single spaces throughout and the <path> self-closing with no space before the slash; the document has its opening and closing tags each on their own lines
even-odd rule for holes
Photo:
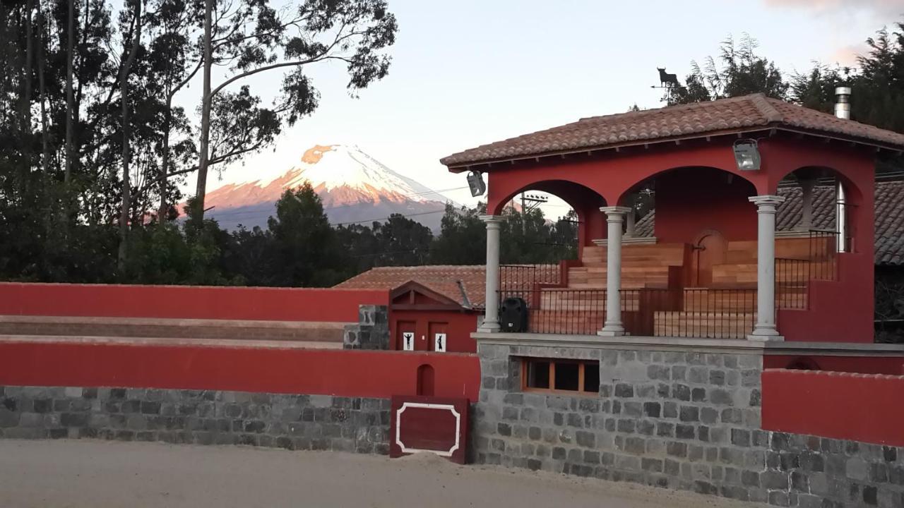
<svg viewBox="0 0 904 508">
<path fill-rule="evenodd" d="M 287 0 L 285 3 L 290 3 Z M 350 97 L 342 65 L 309 68 L 320 106 L 275 146 L 212 172 L 208 189 L 270 179 L 317 144 L 355 145 L 455 202 L 474 204 L 443 156 L 579 118 L 659 108 L 657 67 L 691 61 L 749 33 L 790 74 L 852 65 L 867 37 L 904 20 L 904 0 L 389 0 L 399 22 L 388 77 Z M 248 83 L 274 97 L 279 71 Z M 197 90 L 200 87 L 193 87 Z M 190 89 L 191 90 L 191 89 Z M 194 98 L 185 98 L 191 100 Z M 196 102 L 195 102 L 196 104 Z M 186 190 L 193 189 L 190 176 Z M 460 187 L 465 187 L 460 189 Z M 561 214 L 552 201 L 547 214 Z M 564 208 L 564 207 L 563 207 Z"/>
</svg>

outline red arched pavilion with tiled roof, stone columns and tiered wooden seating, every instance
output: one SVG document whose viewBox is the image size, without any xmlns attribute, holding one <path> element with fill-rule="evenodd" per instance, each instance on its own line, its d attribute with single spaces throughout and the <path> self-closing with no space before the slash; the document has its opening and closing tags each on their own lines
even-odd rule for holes
<svg viewBox="0 0 904 508">
<path fill-rule="evenodd" d="M 529 334 L 872 343 L 874 167 L 904 136 L 755 94 L 630 112 L 442 159 L 487 175 L 486 319 L 523 296 Z M 832 185 L 831 223 L 814 196 Z M 789 185 L 799 219 L 777 233 Z M 525 191 L 578 212 L 560 280 L 500 285 L 499 221 Z M 645 234 L 638 197 L 654 200 Z M 784 346 L 783 346 L 784 347 Z"/>
</svg>

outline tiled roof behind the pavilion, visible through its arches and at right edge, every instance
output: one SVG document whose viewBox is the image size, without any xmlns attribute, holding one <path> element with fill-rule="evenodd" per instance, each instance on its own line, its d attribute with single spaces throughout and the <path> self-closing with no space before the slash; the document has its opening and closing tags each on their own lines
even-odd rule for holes
<svg viewBox="0 0 904 508">
<path fill-rule="evenodd" d="M 777 230 L 793 230 L 801 219 L 801 192 L 797 187 L 778 190 L 786 201 L 778 207 Z M 813 192 L 813 226 L 834 230 L 835 198 L 831 186 L 817 186 Z M 635 225 L 636 236 L 653 236 L 655 212 L 647 213 Z M 877 182 L 875 191 L 875 259 L 877 265 L 904 264 L 904 182 Z"/>
</svg>

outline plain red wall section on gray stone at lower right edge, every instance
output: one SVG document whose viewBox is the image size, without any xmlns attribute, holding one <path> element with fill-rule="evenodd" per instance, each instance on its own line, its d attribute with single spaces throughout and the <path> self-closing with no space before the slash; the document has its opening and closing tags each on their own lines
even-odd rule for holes
<svg viewBox="0 0 904 508">
<path fill-rule="evenodd" d="M 767 370 L 767 430 L 904 446 L 904 376 Z"/>
</svg>

